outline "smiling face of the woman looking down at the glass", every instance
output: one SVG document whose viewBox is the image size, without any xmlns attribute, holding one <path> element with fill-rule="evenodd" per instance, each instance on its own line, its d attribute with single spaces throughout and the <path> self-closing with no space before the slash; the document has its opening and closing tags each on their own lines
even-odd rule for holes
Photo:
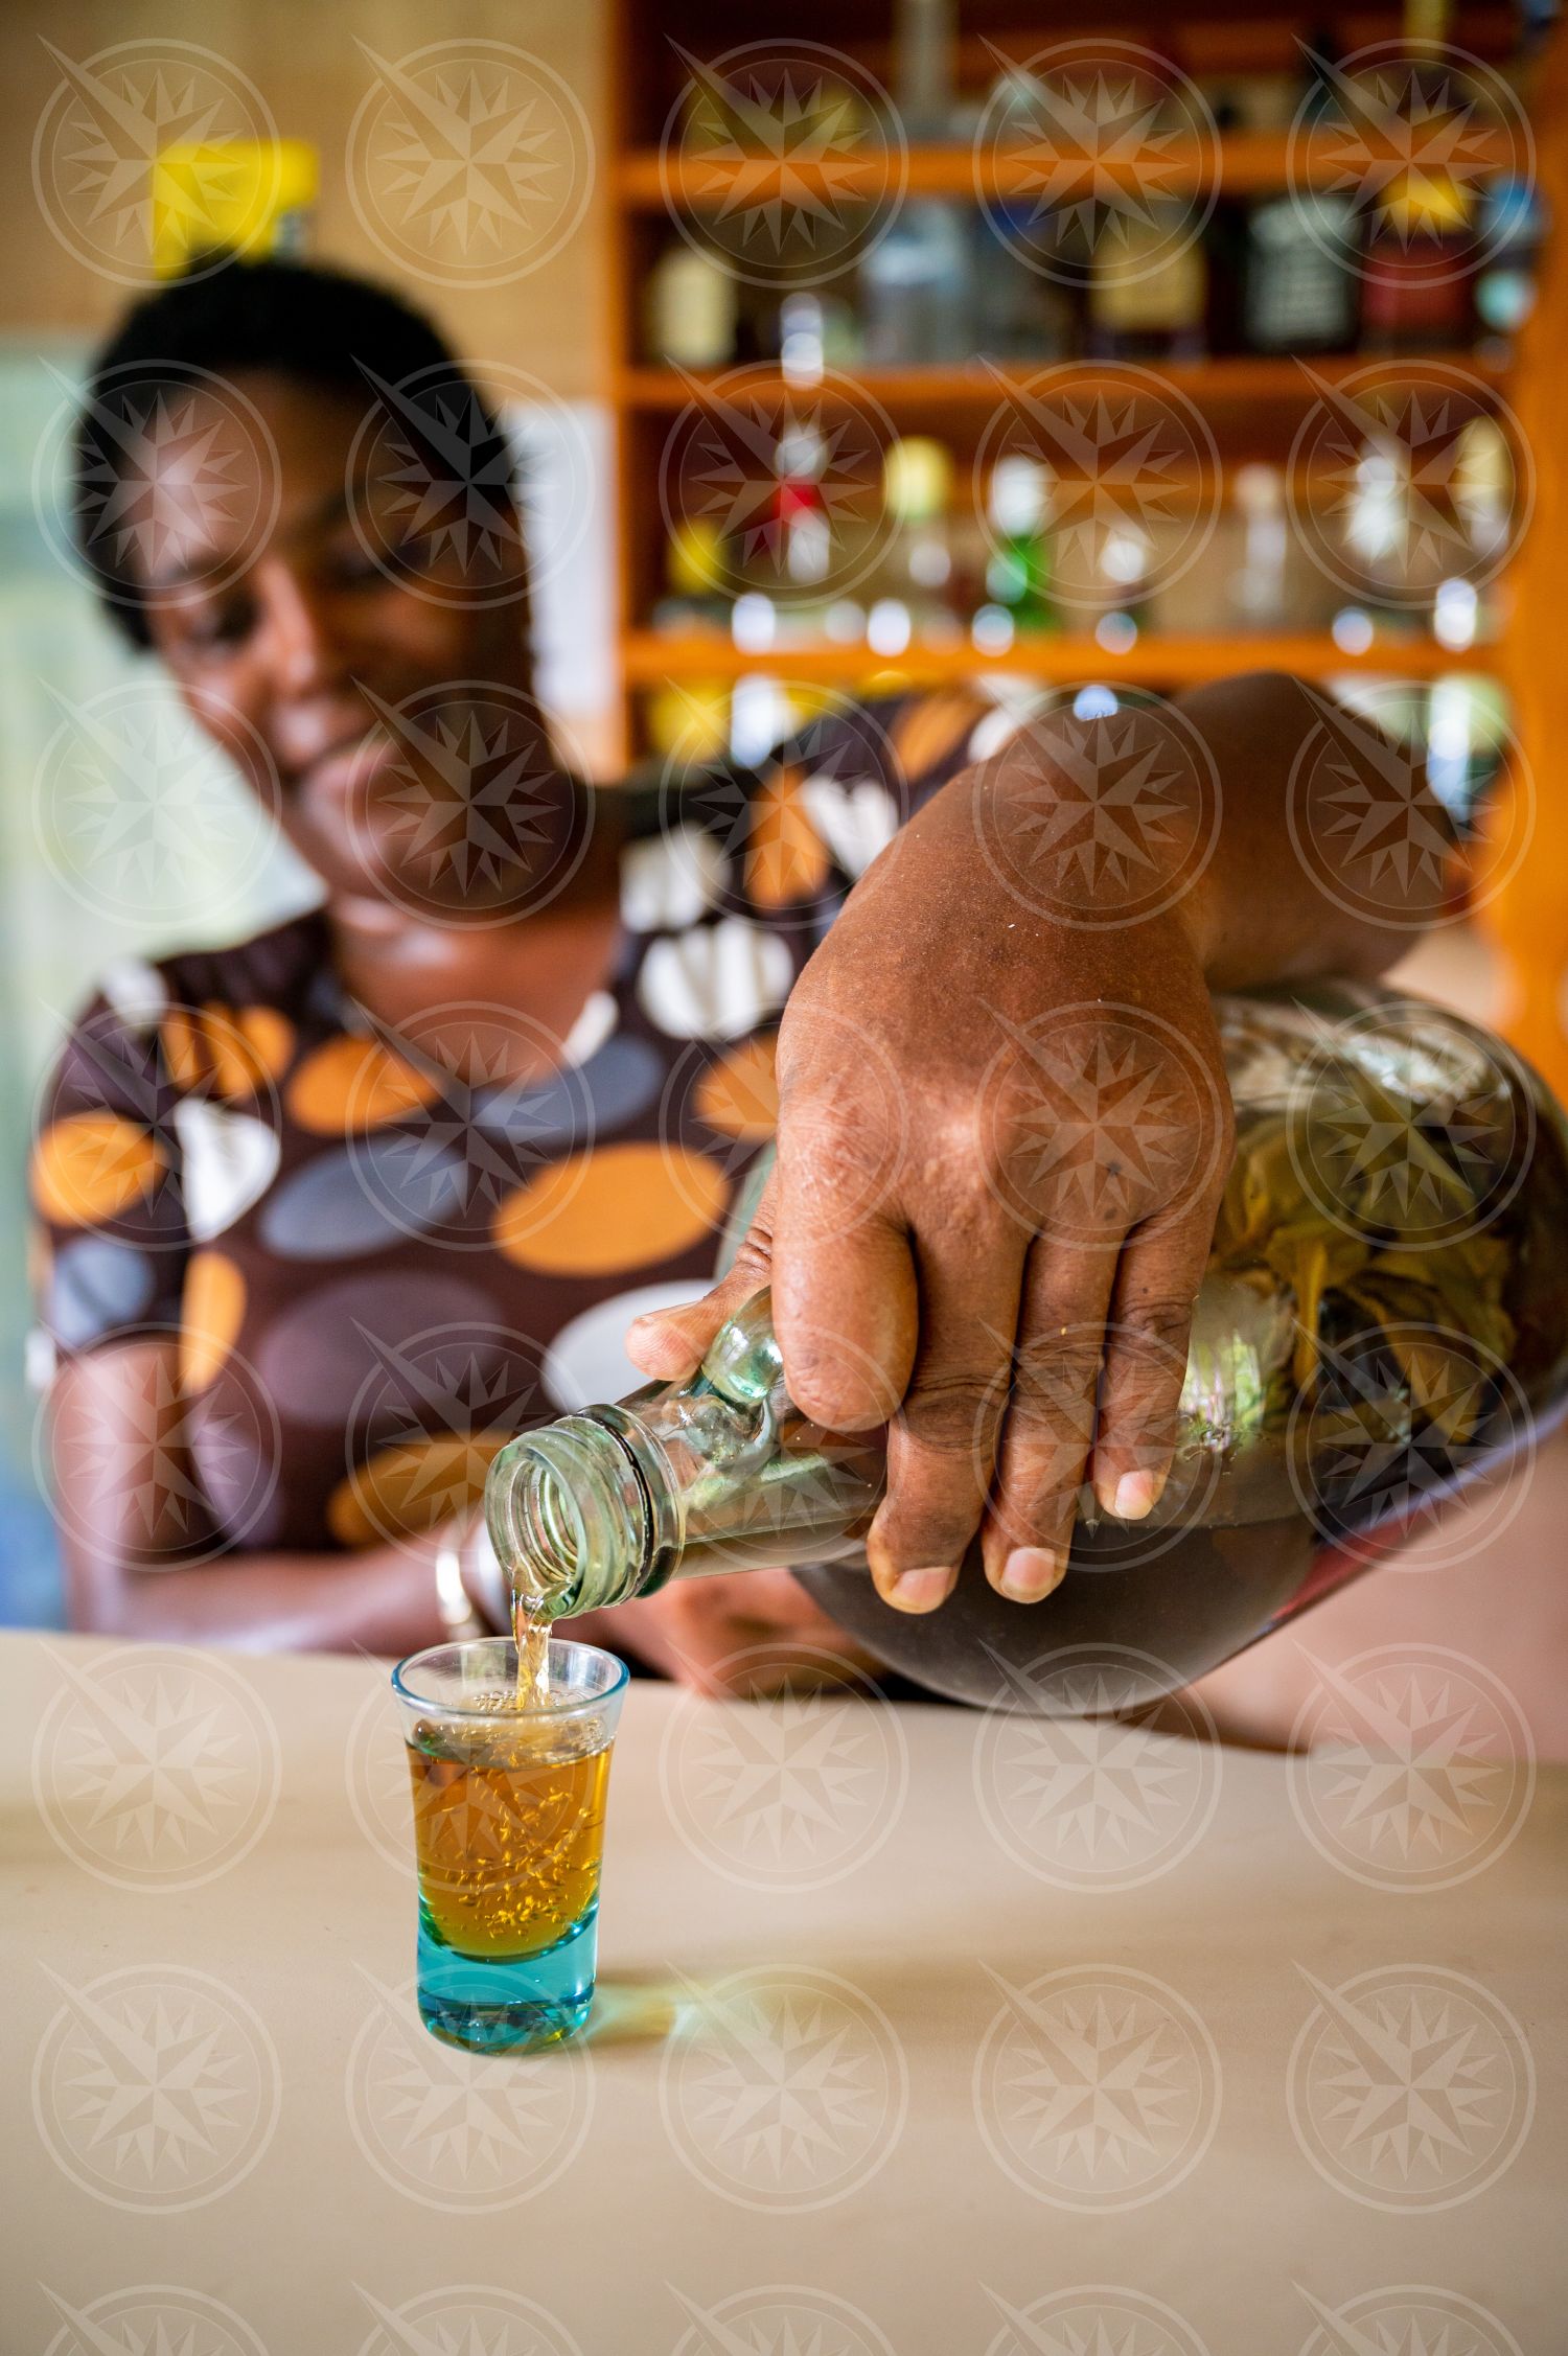
<svg viewBox="0 0 1568 2356">
<path fill-rule="evenodd" d="M 189 712 L 330 893 L 523 914 L 571 862 L 573 794 L 531 695 L 505 483 L 443 481 L 370 386 L 231 386 L 137 457 L 149 627 Z"/>
</svg>

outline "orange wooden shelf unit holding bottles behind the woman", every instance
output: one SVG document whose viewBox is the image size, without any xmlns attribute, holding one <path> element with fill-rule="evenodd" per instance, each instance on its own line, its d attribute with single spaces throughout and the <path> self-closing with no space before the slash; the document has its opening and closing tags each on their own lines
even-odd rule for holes
<svg viewBox="0 0 1568 2356">
<path fill-rule="evenodd" d="M 1075 7 L 1059 0 L 1042 0 L 1023 9 L 1023 0 L 962 0 L 962 16 L 986 16 L 981 31 L 988 45 L 997 42 L 1019 57 L 1094 28 L 1094 12 L 1080 0 Z M 1137 21 L 1141 16 L 1141 24 Z M 1236 38 L 1243 47 L 1252 42 L 1257 57 L 1259 21 L 1269 19 L 1271 38 L 1283 57 L 1290 57 L 1292 33 L 1304 38 L 1323 21 L 1309 5 L 1236 7 L 1217 0 L 1203 9 L 1207 33 L 1221 42 Z M 1233 19 L 1219 26 L 1210 19 Z M 988 674 L 1026 676 L 1040 681 L 1106 679 L 1129 686 L 1179 688 L 1186 683 L 1221 679 L 1236 669 L 1254 664 L 1285 667 L 1313 679 L 1339 674 L 1396 674 L 1403 679 L 1436 679 L 1445 671 L 1497 669 L 1497 650 L 1471 648 L 1462 655 L 1448 653 L 1431 638 L 1408 638 L 1375 643 L 1363 655 L 1344 653 L 1327 634 L 1294 631 L 1278 636 L 1177 636 L 1146 631 L 1125 655 L 1108 655 L 1092 636 L 1066 631 L 1063 636 L 1035 638 L 1014 646 L 1007 655 L 988 657 L 969 646 L 960 648 L 910 648 L 896 662 L 884 662 L 861 646 L 785 646 L 773 653 L 743 653 L 729 638 L 703 634 L 665 636 L 646 627 L 646 613 L 658 594 L 658 558 L 665 540 L 660 514 L 660 452 L 674 417 L 693 401 L 693 389 L 724 372 L 686 375 L 677 368 L 651 365 L 644 353 L 644 276 L 651 259 L 665 243 L 660 221 L 667 221 L 670 198 L 691 212 L 703 212 L 719 191 L 710 174 L 672 170 L 660 151 L 663 120 L 670 99 L 679 87 L 679 66 L 672 66 L 672 45 L 698 57 L 719 57 L 736 47 L 736 24 L 717 9 L 717 0 L 663 0 L 658 12 L 651 0 L 613 0 L 613 92 L 611 92 L 611 158 L 608 158 L 608 205 L 611 205 L 611 323 L 608 323 L 608 403 L 615 434 L 615 596 L 618 596 L 618 664 L 620 664 L 620 744 L 622 759 L 637 756 L 639 702 L 651 688 L 672 681 L 731 681 L 740 676 L 790 676 L 802 681 L 832 681 L 839 686 L 887 683 L 889 679 L 953 681 L 983 679 Z M 835 5 L 811 21 L 802 12 L 792 19 L 790 40 L 823 40 L 865 64 L 889 73 L 891 0 L 849 0 Z M 1160 47 L 1172 33 L 1170 9 L 1155 0 L 1132 0 L 1127 24 L 1118 19 L 1118 33 L 1148 40 Z M 1398 33 L 1398 9 L 1363 9 L 1346 14 L 1344 45 L 1363 45 Z M 785 35 L 780 35 L 785 38 Z M 1455 40 L 1469 42 L 1476 54 L 1507 54 L 1507 12 L 1497 7 L 1462 9 Z M 960 31 L 960 57 L 976 47 L 969 21 Z M 995 52 L 990 52 L 995 54 Z M 969 59 L 971 61 L 971 59 Z M 1212 66 L 1212 59 L 1207 61 Z M 1205 66 L 1205 71 L 1207 71 Z M 1502 137 L 1467 139 L 1467 158 L 1478 170 L 1504 170 L 1509 146 Z M 1297 141 L 1294 153 L 1285 132 L 1224 132 L 1212 146 L 1188 146 L 1170 151 L 1170 188 L 1193 188 L 1214 184 L 1226 196 L 1261 196 L 1299 186 L 1304 179 L 1332 184 L 1337 174 L 1332 141 L 1316 141 L 1306 151 Z M 747 167 L 750 172 L 750 167 Z M 870 165 L 861 174 L 872 188 L 882 186 L 879 170 Z M 875 186 L 872 186 L 875 184 Z M 762 186 L 762 184 L 757 184 Z M 979 200 L 986 196 L 1035 193 L 1040 174 L 1026 160 L 1002 165 L 981 177 L 976 191 L 974 151 L 964 144 L 913 146 L 908 151 L 910 196 L 948 196 Z M 856 172 L 849 177 L 839 167 L 832 172 L 835 196 L 856 193 Z M 672 231 L 672 224 L 670 224 Z M 674 233 L 674 231 L 672 231 Z M 1294 424 L 1313 401 L 1313 382 L 1339 382 L 1356 370 L 1377 363 L 1375 353 L 1351 351 L 1332 356 L 1261 358 L 1224 356 L 1191 363 L 1139 363 L 1148 375 L 1167 382 L 1203 410 L 1228 471 L 1247 457 L 1271 457 L 1285 462 Z M 1000 372 L 983 363 L 946 368 L 856 368 L 851 384 L 870 396 L 894 419 L 894 426 L 910 431 L 938 431 L 960 450 L 974 445 L 974 436 L 986 415 L 995 410 L 1007 384 L 1028 384 L 1040 370 L 1066 370 L 1075 363 L 1052 363 L 1042 358 L 1037 368 L 1012 360 Z M 1082 363 L 1094 368 L 1096 363 Z M 1396 360 L 1377 365 L 1398 368 Z M 1450 353 L 1422 356 L 1422 368 L 1464 368 L 1495 396 L 1504 393 L 1509 365 L 1495 349 L 1478 346 Z M 1311 375 L 1309 375 L 1311 370 Z M 778 370 L 747 370 L 757 386 L 785 389 Z"/>
</svg>

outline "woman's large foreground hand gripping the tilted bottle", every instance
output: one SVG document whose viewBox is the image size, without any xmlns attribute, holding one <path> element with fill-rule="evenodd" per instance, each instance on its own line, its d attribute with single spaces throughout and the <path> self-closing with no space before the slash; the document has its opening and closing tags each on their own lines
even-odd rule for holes
<svg viewBox="0 0 1568 2356">
<path fill-rule="evenodd" d="M 1125 714 L 1115 761 L 1172 770 L 1177 730 L 1200 773 L 1170 714 Z M 913 1612 L 943 1602 L 976 1529 L 995 1588 L 1049 1595 L 1085 1477 L 1120 1520 L 1153 1508 L 1231 1159 L 1193 855 L 1207 780 L 1181 806 L 1170 787 L 1191 872 L 1153 891 L 1134 874 L 1118 900 L 1089 860 L 1073 902 L 1054 858 L 1056 905 L 1030 905 L 997 858 L 1094 822 L 1080 752 L 969 770 L 868 872 L 790 999 L 778 1166 L 736 1268 L 630 1338 L 681 1376 L 771 1284 L 795 1402 L 891 1423 L 868 1555 Z"/>
</svg>

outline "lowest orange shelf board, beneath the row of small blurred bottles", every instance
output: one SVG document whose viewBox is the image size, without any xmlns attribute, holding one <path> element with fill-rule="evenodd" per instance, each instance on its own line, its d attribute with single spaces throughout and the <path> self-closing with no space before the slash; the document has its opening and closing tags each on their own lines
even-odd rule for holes
<svg viewBox="0 0 1568 2356">
<path fill-rule="evenodd" d="M 655 688 L 693 679 L 743 679 L 752 674 L 799 676 L 823 681 L 920 679 L 953 681 L 1002 674 L 1012 679 L 1082 681 L 1106 679 L 1127 686 L 1195 686 L 1203 679 L 1228 679 L 1233 671 L 1299 671 L 1306 679 L 1330 679 L 1370 671 L 1394 679 L 1436 679 L 1443 671 L 1495 671 L 1497 648 L 1476 646 L 1455 655 L 1434 638 L 1382 641 L 1365 655 L 1346 655 L 1320 634 L 1186 638 L 1146 634 L 1125 655 L 1108 655 L 1087 634 L 1030 638 L 1007 655 L 979 655 L 971 646 L 913 646 L 894 662 L 863 646 L 780 646 L 766 655 L 743 653 L 729 638 L 665 638 L 653 629 L 632 629 L 620 641 L 620 664 L 627 686 Z"/>
</svg>

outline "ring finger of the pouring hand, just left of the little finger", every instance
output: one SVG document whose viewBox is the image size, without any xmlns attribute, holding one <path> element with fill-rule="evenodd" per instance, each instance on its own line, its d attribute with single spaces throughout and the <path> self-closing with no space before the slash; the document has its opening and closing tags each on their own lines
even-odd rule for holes
<svg viewBox="0 0 1568 2356">
<path fill-rule="evenodd" d="M 1040 1602 L 1068 1567 L 1118 1249 L 1037 1237 L 1028 1253 L 981 1541 L 986 1579 L 1014 1602 Z"/>
</svg>

